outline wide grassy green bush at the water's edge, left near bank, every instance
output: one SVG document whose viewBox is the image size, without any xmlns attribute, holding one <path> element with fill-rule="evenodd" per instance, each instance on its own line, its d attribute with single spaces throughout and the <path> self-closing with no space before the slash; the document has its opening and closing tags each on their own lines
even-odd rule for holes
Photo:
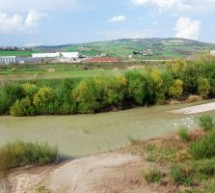
<svg viewBox="0 0 215 193">
<path fill-rule="evenodd" d="M 56 147 L 17 141 L 0 148 L 0 172 L 29 164 L 48 164 L 58 159 Z"/>
</svg>

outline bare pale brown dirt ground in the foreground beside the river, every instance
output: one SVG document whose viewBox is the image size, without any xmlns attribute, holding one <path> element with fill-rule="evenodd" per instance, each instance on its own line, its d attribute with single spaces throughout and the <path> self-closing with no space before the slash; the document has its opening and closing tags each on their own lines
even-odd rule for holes
<svg viewBox="0 0 215 193">
<path fill-rule="evenodd" d="M 44 186 L 52 193 L 153 193 L 141 186 L 140 163 L 140 157 L 130 154 L 93 155 L 57 168 L 12 175 L 11 191 L 35 193 L 37 187 Z"/>
</svg>

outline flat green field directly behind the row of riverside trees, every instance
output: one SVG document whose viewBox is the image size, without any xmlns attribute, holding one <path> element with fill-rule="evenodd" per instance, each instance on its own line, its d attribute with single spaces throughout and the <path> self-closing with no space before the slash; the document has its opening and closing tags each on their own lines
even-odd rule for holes
<svg viewBox="0 0 215 193">
<path fill-rule="evenodd" d="M 0 68 L 0 80 L 34 80 L 55 78 L 82 78 L 117 75 L 121 70 L 116 69 L 84 69 L 83 66 L 75 65 L 31 65 L 31 66 L 9 66 Z"/>
</svg>

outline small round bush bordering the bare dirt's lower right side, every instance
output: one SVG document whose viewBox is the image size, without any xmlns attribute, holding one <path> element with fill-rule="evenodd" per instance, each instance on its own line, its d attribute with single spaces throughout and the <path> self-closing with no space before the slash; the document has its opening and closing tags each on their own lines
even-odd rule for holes
<svg viewBox="0 0 215 193">
<path fill-rule="evenodd" d="M 152 169 L 147 172 L 142 172 L 144 179 L 148 183 L 161 183 L 163 174 L 158 169 Z"/>
</svg>

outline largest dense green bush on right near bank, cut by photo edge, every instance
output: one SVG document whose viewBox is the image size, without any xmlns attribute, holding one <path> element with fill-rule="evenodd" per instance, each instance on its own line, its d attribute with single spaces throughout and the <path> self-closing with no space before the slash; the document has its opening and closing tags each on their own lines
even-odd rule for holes
<svg viewBox="0 0 215 193">
<path fill-rule="evenodd" d="M 195 159 L 212 158 L 215 156 L 215 133 L 209 133 L 189 146 L 189 152 Z"/>
</svg>

